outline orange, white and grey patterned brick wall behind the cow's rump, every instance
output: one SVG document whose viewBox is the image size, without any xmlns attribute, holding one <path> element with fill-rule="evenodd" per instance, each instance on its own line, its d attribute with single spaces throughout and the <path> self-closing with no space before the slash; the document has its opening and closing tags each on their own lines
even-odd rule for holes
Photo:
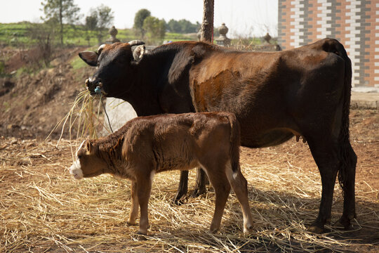
<svg viewBox="0 0 379 253">
<path fill-rule="evenodd" d="M 379 86 L 379 0 L 279 0 L 283 49 L 338 39 L 352 60 L 353 86 Z"/>
</svg>

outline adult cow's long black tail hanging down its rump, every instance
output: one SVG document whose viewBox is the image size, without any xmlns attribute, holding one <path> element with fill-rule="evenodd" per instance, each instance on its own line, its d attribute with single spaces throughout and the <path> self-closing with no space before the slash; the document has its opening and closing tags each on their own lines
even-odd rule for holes
<svg viewBox="0 0 379 253">
<path fill-rule="evenodd" d="M 355 167 L 354 163 L 357 162 L 357 156 L 355 155 L 350 145 L 349 133 L 350 98 L 352 91 L 352 62 L 349 56 L 347 56 L 347 52 L 343 47 L 343 44 L 340 44 L 340 42 L 335 39 L 330 39 L 328 42 L 328 51 L 337 54 L 343 58 L 343 60 L 345 60 L 345 80 L 343 84 L 342 97 L 343 115 L 340 135 L 338 136 L 338 143 L 340 145 L 340 158 L 342 162 L 338 171 L 338 181 L 345 193 L 345 184 L 347 183 L 346 180 L 348 178 L 347 174 L 351 173 L 351 171 L 348 170 L 349 168 Z"/>
</svg>

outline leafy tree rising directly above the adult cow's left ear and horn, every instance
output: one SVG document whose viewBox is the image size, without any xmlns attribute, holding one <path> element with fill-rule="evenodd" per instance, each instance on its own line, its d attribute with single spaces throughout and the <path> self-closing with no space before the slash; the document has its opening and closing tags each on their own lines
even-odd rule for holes
<svg viewBox="0 0 379 253">
<path fill-rule="evenodd" d="M 86 17 L 86 28 L 88 30 L 96 30 L 98 43 L 102 44 L 102 39 L 114 20 L 113 11 L 104 4 L 91 8 L 90 15 Z"/>
</svg>

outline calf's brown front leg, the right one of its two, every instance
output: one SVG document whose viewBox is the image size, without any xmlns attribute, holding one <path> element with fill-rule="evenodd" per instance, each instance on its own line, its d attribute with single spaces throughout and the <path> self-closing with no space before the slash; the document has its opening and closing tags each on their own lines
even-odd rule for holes
<svg viewBox="0 0 379 253">
<path fill-rule="evenodd" d="M 146 235 L 147 228 L 149 228 L 149 213 L 147 205 L 149 204 L 149 197 L 152 190 L 152 178 L 154 171 L 151 175 L 140 175 L 137 178 L 137 195 L 140 204 L 140 231 L 139 234 Z"/>
</svg>

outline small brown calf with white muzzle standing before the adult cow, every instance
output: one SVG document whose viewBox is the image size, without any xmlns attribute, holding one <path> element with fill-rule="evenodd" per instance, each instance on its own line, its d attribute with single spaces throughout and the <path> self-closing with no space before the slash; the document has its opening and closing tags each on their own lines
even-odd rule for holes
<svg viewBox="0 0 379 253">
<path fill-rule="evenodd" d="M 85 141 L 69 171 L 75 179 L 112 174 L 131 183 L 129 225 L 140 207 L 140 230 L 147 234 L 147 203 L 154 174 L 200 166 L 215 189 L 215 212 L 210 231 L 220 228 L 230 193 L 237 195 L 244 233 L 253 228 L 247 181 L 239 167 L 239 122 L 230 112 L 199 112 L 136 117 L 105 138 Z"/>
</svg>

